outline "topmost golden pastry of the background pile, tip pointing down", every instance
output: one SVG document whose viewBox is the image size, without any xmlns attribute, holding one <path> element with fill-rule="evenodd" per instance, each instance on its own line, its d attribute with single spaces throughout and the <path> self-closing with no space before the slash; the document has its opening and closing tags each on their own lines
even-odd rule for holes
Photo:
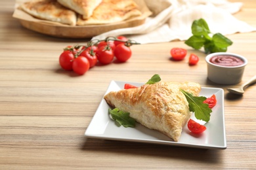
<svg viewBox="0 0 256 170">
<path fill-rule="evenodd" d="M 60 4 L 74 10 L 83 16 L 83 19 L 89 18 L 93 10 L 102 2 L 102 0 L 57 0 Z"/>
</svg>

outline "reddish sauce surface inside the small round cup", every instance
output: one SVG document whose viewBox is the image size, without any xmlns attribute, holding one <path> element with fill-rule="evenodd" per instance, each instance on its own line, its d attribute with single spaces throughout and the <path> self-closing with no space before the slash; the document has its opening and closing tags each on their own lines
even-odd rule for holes
<svg viewBox="0 0 256 170">
<path fill-rule="evenodd" d="M 244 63 L 244 61 L 241 58 L 237 58 L 235 56 L 230 55 L 213 56 L 212 58 L 210 58 L 210 62 L 216 65 L 230 67 L 242 65 Z"/>
</svg>

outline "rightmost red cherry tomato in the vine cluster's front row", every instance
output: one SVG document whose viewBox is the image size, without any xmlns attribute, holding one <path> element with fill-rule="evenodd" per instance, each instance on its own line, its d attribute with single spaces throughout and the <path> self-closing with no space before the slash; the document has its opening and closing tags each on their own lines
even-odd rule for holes
<svg viewBox="0 0 256 170">
<path fill-rule="evenodd" d="M 119 44 L 116 46 L 114 54 L 118 61 L 125 62 L 131 58 L 131 48 L 129 46 L 125 46 L 125 44 Z"/>
</svg>

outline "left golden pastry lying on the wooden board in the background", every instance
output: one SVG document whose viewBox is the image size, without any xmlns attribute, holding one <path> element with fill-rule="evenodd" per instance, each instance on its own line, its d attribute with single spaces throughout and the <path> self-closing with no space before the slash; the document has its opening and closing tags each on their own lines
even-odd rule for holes
<svg viewBox="0 0 256 170">
<path fill-rule="evenodd" d="M 75 25 L 77 15 L 74 11 L 60 5 L 56 0 L 33 0 L 22 3 L 20 8 L 28 14 L 43 20 Z"/>
</svg>

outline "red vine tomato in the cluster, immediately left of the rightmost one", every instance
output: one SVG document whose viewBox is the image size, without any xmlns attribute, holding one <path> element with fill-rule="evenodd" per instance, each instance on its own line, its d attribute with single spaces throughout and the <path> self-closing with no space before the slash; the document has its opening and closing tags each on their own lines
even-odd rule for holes
<svg viewBox="0 0 256 170">
<path fill-rule="evenodd" d="M 105 46 L 98 48 L 96 55 L 98 61 L 104 65 L 111 63 L 114 59 L 114 52 L 112 48 L 105 48 Z"/>
</svg>

